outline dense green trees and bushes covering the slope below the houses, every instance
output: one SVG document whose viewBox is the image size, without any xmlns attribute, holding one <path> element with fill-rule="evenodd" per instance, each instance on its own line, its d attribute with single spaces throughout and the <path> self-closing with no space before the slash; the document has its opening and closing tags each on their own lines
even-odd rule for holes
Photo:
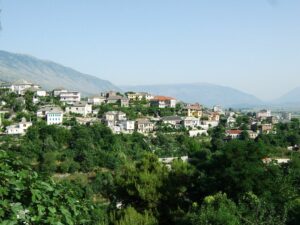
<svg viewBox="0 0 300 225">
<path fill-rule="evenodd" d="M 246 132 L 226 139 L 224 116 L 209 136 L 163 125 L 150 135 L 113 134 L 102 123 L 79 124 L 76 115 L 46 125 L 30 94 L 23 105 L 1 93 L 10 109 L 4 128 L 24 117 L 33 122 L 24 136 L 0 137 L 1 224 L 299 224 L 300 157 L 287 150 L 300 144 L 297 119 L 255 139 Z M 98 116 L 110 108 L 135 116 L 139 104 L 99 106 Z M 250 118 L 239 114 L 235 126 L 245 129 Z M 181 156 L 188 160 L 161 160 Z"/>
</svg>

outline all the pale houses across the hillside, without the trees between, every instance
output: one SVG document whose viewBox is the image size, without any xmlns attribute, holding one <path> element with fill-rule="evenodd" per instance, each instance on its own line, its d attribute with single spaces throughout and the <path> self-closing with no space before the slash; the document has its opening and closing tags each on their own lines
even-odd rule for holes
<svg viewBox="0 0 300 225">
<path fill-rule="evenodd" d="M 147 134 L 156 130 L 160 125 L 169 126 L 174 129 L 186 128 L 190 136 L 208 135 L 208 129 L 218 126 L 221 115 L 227 119 L 226 138 L 236 139 L 241 137 L 242 130 L 236 127 L 236 112 L 224 112 L 220 106 L 213 109 L 203 108 L 200 104 L 181 103 L 179 115 L 159 117 L 141 116 L 136 120 L 129 120 L 127 115 L 121 111 L 106 112 L 102 118 L 98 118 L 97 106 L 102 104 L 118 104 L 121 107 L 129 107 L 131 102 L 144 101 L 149 107 L 176 108 L 178 101 L 167 96 L 154 96 L 146 92 L 127 92 L 120 94 L 115 91 L 103 92 L 99 95 L 90 96 L 83 101 L 81 93 L 70 91 L 65 88 L 57 88 L 51 92 L 42 90 L 39 85 L 26 80 L 19 80 L 12 83 L 0 84 L 0 89 L 8 89 L 11 92 L 24 96 L 27 91 L 34 93 L 34 103 L 46 96 L 53 96 L 61 102 L 63 108 L 57 105 L 42 105 L 38 109 L 37 118 L 44 119 L 48 125 L 63 124 L 64 117 L 72 115 L 80 124 L 102 122 L 114 133 L 132 133 L 134 131 Z M 94 110 L 93 110 L 94 109 Z M 0 112 L 1 114 L 1 112 Z M 1 118 L 1 117 L 0 117 Z M 291 114 L 282 113 L 281 116 L 274 116 L 270 110 L 261 110 L 250 118 L 246 124 L 248 135 L 255 139 L 260 133 L 274 132 L 273 126 L 278 121 L 291 120 Z M 20 123 L 6 127 L 7 134 L 25 134 L 32 122 L 23 119 Z"/>
</svg>

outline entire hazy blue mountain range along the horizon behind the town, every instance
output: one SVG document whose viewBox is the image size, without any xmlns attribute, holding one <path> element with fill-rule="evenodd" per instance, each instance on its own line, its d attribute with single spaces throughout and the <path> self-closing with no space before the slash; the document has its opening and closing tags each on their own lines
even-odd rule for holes
<svg viewBox="0 0 300 225">
<path fill-rule="evenodd" d="M 219 104 L 225 107 L 254 107 L 300 103 L 300 87 L 272 102 L 263 102 L 254 95 L 234 88 L 207 83 L 140 85 L 120 88 L 107 80 L 51 61 L 0 51 L 0 80 L 15 81 L 18 79 L 37 83 L 46 90 L 64 87 L 80 91 L 84 95 L 99 94 L 108 90 L 145 91 L 156 95 L 172 96 L 185 102 L 199 102 L 207 106 Z"/>
</svg>

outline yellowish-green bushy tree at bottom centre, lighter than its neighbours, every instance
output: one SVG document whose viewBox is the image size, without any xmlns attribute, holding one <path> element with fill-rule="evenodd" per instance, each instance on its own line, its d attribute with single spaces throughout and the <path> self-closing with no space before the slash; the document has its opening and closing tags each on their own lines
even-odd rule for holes
<svg viewBox="0 0 300 225">
<path fill-rule="evenodd" d="M 140 161 L 127 163 L 117 171 L 116 200 L 139 212 L 150 210 L 157 213 L 166 177 L 166 167 L 154 155 L 146 154 Z"/>
</svg>

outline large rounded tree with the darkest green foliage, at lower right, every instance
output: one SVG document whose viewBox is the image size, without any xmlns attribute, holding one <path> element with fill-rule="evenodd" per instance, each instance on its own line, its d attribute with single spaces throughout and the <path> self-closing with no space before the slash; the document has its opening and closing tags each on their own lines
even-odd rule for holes
<svg viewBox="0 0 300 225">
<path fill-rule="evenodd" d="M 254 141 L 233 140 L 226 143 L 221 150 L 213 153 L 208 163 L 202 167 L 199 165 L 199 172 L 205 175 L 198 184 L 199 189 L 202 188 L 201 193 L 207 196 L 222 191 L 236 200 L 249 191 L 261 192 L 269 181 L 262 161 L 265 155 L 264 146 Z"/>
</svg>

